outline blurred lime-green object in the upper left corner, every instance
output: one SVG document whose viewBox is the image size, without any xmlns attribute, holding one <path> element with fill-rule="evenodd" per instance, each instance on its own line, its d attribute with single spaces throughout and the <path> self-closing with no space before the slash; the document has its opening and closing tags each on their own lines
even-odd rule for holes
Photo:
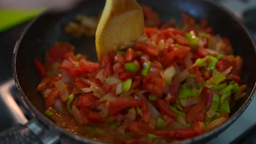
<svg viewBox="0 0 256 144">
<path fill-rule="evenodd" d="M 44 9 L 0 9 L 0 32 L 30 20 Z"/>
</svg>

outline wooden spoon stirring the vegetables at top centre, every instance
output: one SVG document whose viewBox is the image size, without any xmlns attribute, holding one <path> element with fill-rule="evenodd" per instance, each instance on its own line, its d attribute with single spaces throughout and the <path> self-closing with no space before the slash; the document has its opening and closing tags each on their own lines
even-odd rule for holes
<svg viewBox="0 0 256 144">
<path fill-rule="evenodd" d="M 132 44 L 143 32 L 143 13 L 135 0 L 106 0 L 96 31 L 98 60 L 120 46 Z"/>
</svg>

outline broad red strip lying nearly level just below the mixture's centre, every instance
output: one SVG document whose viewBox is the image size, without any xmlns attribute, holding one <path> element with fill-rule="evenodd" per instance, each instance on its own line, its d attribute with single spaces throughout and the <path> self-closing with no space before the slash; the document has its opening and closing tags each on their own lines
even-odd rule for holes
<svg viewBox="0 0 256 144">
<path fill-rule="evenodd" d="M 118 98 L 114 101 L 107 101 L 106 105 L 110 111 L 110 115 L 115 116 L 128 107 L 141 106 L 141 101 L 134 98 Z"/>
</svg>

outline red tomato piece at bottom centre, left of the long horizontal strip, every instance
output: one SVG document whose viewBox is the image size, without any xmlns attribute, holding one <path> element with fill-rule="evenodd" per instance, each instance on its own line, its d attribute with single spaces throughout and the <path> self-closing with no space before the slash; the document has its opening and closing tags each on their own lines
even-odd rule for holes
<svg viewBox="0 0 256 144">
<path fill-rule="evenodd" d="M 150 128 L 147 124 L 140 122 L 130 122 L 129 130 L 138 137 L 152 133 L 153 131 L 153 129 Z"/>
</svg>

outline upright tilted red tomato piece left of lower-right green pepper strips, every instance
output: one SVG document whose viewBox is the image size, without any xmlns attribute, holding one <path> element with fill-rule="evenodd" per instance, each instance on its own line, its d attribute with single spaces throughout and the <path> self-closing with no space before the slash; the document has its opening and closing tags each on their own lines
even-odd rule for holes
<svg viewBox="0 0 256 144">
<path fill-rule="evenodd" d="M 197 103 L 195 106 L 193 106 L 189 110 L 186 116 L 186 120 L 190 123 L 196 122 L 198 113 L 201 113 L 204 108 L 205 108 L 205 103 L 203 101 L 200 103 Z"/>
</svg>

